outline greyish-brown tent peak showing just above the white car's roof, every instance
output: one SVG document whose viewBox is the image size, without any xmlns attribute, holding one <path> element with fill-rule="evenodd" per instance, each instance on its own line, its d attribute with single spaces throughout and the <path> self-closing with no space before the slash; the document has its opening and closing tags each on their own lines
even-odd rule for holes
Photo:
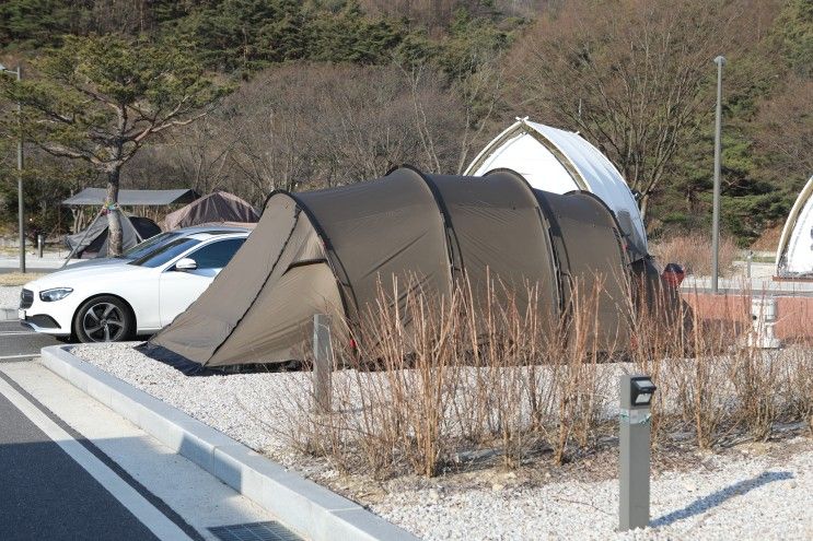
<svg viewBox="0 0 813 541">
<path fill-rule="evenodd" d="M 214 191 L 167 214 L 161 227 L 172 231 L 204 224 L 255 223 L 257 220 L 259 214 L 254 207 L 227 191 Z"/>
</svg>

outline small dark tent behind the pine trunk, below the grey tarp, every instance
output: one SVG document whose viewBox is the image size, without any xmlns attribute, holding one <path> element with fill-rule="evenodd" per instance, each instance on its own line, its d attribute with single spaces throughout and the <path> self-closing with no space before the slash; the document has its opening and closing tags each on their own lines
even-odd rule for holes
<svg viewBox="0 0 813 541">
<path fill-rule="evenodd" d="M 97 214 L 96 219 L 76 235 L 65 237 L 70 248 L 70 258 L 90 259 L 107 257 L 107 216 Z M 161 233 L 161 227 L 149 217 L 130 216 L 121 213 L 121 249 L 126 250 Z"/>
</svg>

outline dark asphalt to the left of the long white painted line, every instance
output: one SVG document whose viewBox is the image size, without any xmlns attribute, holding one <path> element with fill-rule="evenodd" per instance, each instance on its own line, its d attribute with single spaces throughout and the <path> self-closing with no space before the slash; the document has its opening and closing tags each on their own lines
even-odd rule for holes
<svg viewBox="0 0 813 541">
<path fill-rule="evenodd" d="M 0 395 L 0 539 L 158 539 Z"/>
</svg>

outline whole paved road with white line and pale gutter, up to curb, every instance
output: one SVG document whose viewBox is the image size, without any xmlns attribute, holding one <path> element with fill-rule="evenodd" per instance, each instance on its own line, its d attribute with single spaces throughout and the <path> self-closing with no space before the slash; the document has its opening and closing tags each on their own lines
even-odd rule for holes
<svg viewBox="0 0 813 541">
<path fill-rule="evenodd" d="M 271 524 L 267 511 L 33 362 L 58 343 L 0 321 L 0 540 L 216 541 L 217 528 Z"/>
</svg>

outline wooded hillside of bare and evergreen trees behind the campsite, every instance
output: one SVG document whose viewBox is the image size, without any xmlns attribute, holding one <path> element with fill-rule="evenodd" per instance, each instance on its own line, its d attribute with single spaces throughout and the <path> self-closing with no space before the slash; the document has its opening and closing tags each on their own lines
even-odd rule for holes
<svg viewBox="0 0 813 541">
<path fill-rule="evenodd" d="M 30 94 L 59 94 L 53 73 L 61 72 L 54 66 L 65 68 L 68 57 L 79 67 L 71 69 L 88 78 L 94 75 L 94 67 L 86 66 L 92 57 L 96 68 L 105 66 L 95 75 L 115 80 L 126 55 L 98 45 L 105 43 L 132 50 L 126 68 L 142 75 L 152 68 L 149 55 L 164 51 L 165 62 L 166 51 L 176 51 L 172 58 L 183 63 L 185 77 L 199 73 L 213 89 L 206 94 L 213 101 L 200 104 L 205 114 L 190 109 L 172 129 L 137 141 L 138 152 L 120 169 L 124 188 L 222 188 L 260 204 L 277 188 L 355 183 L 398 164 L 460 173 L 514 117 L 529 116 L 579 131 L 602 149 L 643 195 L 652 235 L 706 230 L 717 55 L 728 59 L 722 172 L 728 232 L 746 245 L 782 222 L 813 175 L 809 0 L 0 4 L 0 62 L 22 63 Z M 77 58 L 76 51 L 91 50 L 86 47 L 94 47 L 92 54 Z M 144 96 L 163 103 L 178 90 L 162 87 L 160 96 L 151 95 L 144 82 Z M 0 232 L 13 230 L 16 220 L 14 101 L 20 98 L 11 91 L 3 95 Z M 185 94 L 177 96 L 188 104 Z M 54 152 L 54 140 L 79 144 L 82 130 L 96 129 L 93 122 L 114 121 L 88 114 L 83 103 L 67 104 L 72 114 L 84 114 L 83 128 L 55 132 L 43 131 L 44 120 L 34 115 L 37 104 L 25 102 L 33 107 L 23 116 L 25 200 L 32 226 L 42 231 L 55 231 L 56 203 L 71 190 L 105 183 L 92 161 Z M 98 158 L 101 151 L 89 141 L 80 141 L 81 150 Z M 61 219 L 62 226 L 67 222 Z"/>
</svg>

